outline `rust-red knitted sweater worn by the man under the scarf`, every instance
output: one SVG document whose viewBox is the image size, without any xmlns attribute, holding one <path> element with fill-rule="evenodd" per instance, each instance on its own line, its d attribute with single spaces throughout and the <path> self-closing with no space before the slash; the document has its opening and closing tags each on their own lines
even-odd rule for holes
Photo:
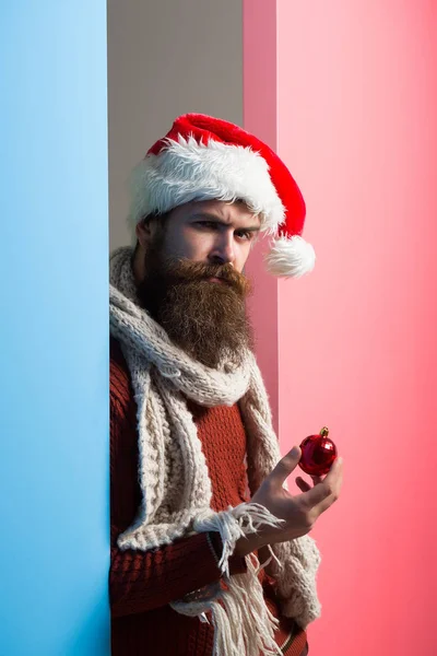
<svg viewBox="0 0 437 656">
<path fill-rule="evenodd" d="M 180 539 L 149 552 L 120 551 L 117 537 L 131 525 L 140 505 L 138 483 L 137 405 L 130 374 L 119 344 L 110 348 L 110 532 L 109 593 L 113 656 L 211 656 L 213 628 L 197 618 L 175 612 L 169 601 L 217 581 L 217 534 Z M 214 511 L 245 501 L 246 434 L 237 406 L 201 408 L 189 403 L 202 442 L 212 482 Z M 233 557 L 231 573 L 245 571 L 245 561 Z M 279 617 L 274 589 L 262 577 L 265 600 Z M 287 656 L 300 656 L 306 634 L 294 622 L 280 618 L 276 635 Z M 292 635 L 291 635 L 292 634 Z"/>
</svg>

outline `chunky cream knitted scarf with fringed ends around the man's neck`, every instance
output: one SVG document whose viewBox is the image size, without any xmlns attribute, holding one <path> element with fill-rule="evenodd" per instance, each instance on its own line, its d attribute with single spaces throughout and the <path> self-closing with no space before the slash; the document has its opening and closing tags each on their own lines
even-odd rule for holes
<svg viewBox="0 0 437 656">
<path fill-rule="evenodd" d="M 227 561 L 237 540 L 261 524 L 281 520 L 261 505 L 245 503 L 215 513 L 201 443 L 186 399 L 206 406 L 238 402 L 247 432 L 247 471 L 251 493 L 281 458 L 267 391 L 253 354 L 235 364 L 232 355 L 217 368 L 192 360 L 140 307 L 131 267 L 132 249 L 110 258 L 110 332 L 120 342 L 138 407 L 139 481 L 142 502 L 132 526 L 118 538 L 120 549 L 147 551 L 194 532 L 218 531 L 222 582 L 175 601 L 180 613 L 214 625 L 214 656 L 277 654 L 275 620 L 257 573 L 258 560 L 246 558 L 247 572 L 229 576 Z M 306 628 L 320 614 L 316 572 L 320 557 L 314 540 L 302 537 L 274 544 L 269 574 L 277 584 L 281 610 Z"/>
</svg>

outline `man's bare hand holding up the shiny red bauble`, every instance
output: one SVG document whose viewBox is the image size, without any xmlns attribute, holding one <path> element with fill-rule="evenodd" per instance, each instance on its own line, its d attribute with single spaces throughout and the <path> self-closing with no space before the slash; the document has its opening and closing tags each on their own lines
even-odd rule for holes
<svg viewBox="0 0 437 656">
<path fill-rule="evenodd" d="M 276 542 L 285 542 L 308 534 L 316 520 L 336 501 L 343 481 L 343 461 L 336 458 L 324 478 L 311 477 L 311 488 L 300 477 L 296 483 L 302 494 L 293 496 L 284 490 L 283 483 L 295 470 L 300 459 L 300 448 L 294 446 L 282 458 L 273 471 L 263 481 L 260 489 L 253 494 L 251 503 L 263 505 L 272 515 L 284 519 L 279 528 L 265 526 L 257 534 L 240 538 L 235 548 L 235 554 L 244 557 Z"/>
</svg>

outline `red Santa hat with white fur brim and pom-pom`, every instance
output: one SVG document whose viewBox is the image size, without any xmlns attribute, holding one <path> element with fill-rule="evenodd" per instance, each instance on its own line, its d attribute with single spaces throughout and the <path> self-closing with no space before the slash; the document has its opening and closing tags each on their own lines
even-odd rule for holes
<svg viewBox="0 0 437 656">
<path fill-rule="evenodd" d="M 231 122 L 187 114 L 177 118 L 131 175 L 129 223 L 190 201 L 243 200 L 273 237 L 267 256 L 275 276 L 299 277 L 316 256 L 302 237 L 305 202 L 280 157 L 262 141 Z"/>
</svg>

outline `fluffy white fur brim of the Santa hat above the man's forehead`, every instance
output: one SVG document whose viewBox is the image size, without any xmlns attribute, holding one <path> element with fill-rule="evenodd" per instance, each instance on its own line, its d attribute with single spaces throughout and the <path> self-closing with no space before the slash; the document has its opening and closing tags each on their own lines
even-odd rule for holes
<svg viewBox="0 0 437 656">
<path fill-rule="evenodd" d="M 265 160 L 250 148 L 193 137 L 167 140 L 157 154 L 149 154 L 133 169 L 128 221 L 165 213 L 193 200 L 244 200 L 261 218 L 261 230 L 276 233 L 285 209 L 269 174 Z"/>
</svg>

